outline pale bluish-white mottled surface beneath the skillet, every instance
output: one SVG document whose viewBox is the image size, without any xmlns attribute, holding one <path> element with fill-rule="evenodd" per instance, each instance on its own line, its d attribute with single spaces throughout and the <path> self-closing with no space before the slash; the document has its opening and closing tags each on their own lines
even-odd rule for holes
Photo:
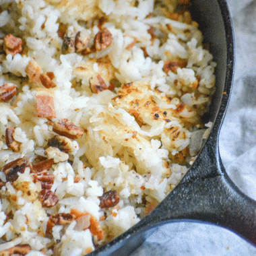
<svg viewBox="0 0 256 256">
<path fill-rule="evenodd" d="M 227 0 L 234 25 L 236 66 L 220 154 L 230 178 L 256 199 L 256 0 Z M 172 223 L 156 230 L 132 256 L 253 256 L 256 247 L 210 224 Z"/>
</svg>

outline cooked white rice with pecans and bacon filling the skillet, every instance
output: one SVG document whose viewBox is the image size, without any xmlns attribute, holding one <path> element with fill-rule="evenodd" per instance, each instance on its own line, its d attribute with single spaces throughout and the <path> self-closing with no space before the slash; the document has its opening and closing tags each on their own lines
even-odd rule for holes
<svg viewBox="0 0 256 256">
<path fill-rule="evenodd" d="M 211 127 L 216 65 L 188 6 L 0 1 L 2 253 L 90 253 L 181 181 Z"/>
</svg>

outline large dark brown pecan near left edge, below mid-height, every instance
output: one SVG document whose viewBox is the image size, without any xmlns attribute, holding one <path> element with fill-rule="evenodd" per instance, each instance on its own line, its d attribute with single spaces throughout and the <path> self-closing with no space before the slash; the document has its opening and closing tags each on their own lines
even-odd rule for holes
<svg viewBox="0 0 256 256">
<path fill-rule="evenodd" d="M 5 172 L 7 181 L 15 181 L 18 179 L 18 172 L 24 173 L 25 169 L 29 167 L 32 168 L 32 164 L 29 162 L 28 158 L 18 158 L 8 164 L 3 166 L 3 172 Z"/>
</svg>

